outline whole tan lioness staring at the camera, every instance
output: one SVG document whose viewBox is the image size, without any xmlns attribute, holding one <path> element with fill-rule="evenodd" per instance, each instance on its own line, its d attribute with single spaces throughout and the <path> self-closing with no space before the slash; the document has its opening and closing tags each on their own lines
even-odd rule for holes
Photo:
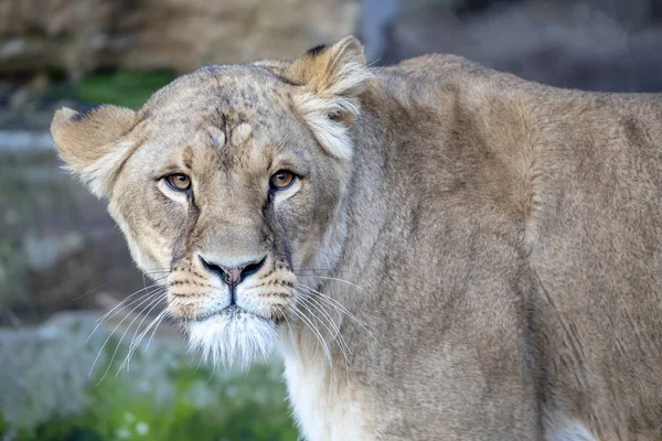
<svg viewBox="0 0 662 441">
<path fill-rule="evenodd" d="M 317 440 L 660 440 L 662 96 L 354 37 L 57 111 L 62 158 L 217 363 Z"/>
</svg>

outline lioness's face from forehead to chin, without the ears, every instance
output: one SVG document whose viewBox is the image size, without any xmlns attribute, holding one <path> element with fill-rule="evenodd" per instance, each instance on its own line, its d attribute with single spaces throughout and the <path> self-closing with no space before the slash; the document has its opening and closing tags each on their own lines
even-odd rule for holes
<svg viewBox="0 0 662 441">
<path fill-rule="evenodd" d="M 193 342 L 223 352 L 258 335 L 261 351 L 295 308 L 293 271 L 311 268 L 346 165 L 317 148 L 278 79 L 216 71 L 196 96 L 185 78 L 156 97 L 153 135 L 118 174 L 110 208 L 141 269 L 168 269 L 168 308 Z"/>
</svg>

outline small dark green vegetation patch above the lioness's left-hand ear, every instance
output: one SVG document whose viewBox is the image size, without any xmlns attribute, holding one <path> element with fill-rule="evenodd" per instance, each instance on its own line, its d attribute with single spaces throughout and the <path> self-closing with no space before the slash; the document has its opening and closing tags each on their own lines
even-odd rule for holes
<svg viewBox="0 0 662 441">
<path fill-rule="evenodd" d="M 117 71 L 90 74 L 74 86 L 78 99 L 86 104 L 115 104 L 138 109 L 159 88 L 175 78 L 170 71 Z"/>
</svg>

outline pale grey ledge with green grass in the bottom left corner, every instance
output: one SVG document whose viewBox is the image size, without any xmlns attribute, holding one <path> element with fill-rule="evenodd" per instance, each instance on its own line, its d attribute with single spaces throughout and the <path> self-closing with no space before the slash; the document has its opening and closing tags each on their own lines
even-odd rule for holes
<svg viewBox="0 0 662 441">
<path fill-rule="evenodd" d="M 0 406 L 0 440 L 297 440 L 279 366 L 214 373 L 179 344 L 152 342 L 134 354 L 128 372 L 120 370 L 128 342 L 113 335 L 104 346 L 104 333 L 87 342 L 94 323 L 73 320 L 32 336 L 4 334 L 7 351 L 25 354 L 9 362 L 9 378 L 0 379 L 14 394 L 3 405 L 6 415 Z M 21 381 L 25 387 L 12 387 Z"/>
</svg>

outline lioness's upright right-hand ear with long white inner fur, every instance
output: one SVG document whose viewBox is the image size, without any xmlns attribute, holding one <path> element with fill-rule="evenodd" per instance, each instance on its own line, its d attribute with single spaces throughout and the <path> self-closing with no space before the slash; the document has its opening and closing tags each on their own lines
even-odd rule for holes
<svg viewBox="0 0 662 441">
<path fill-rule="evenodd" d="M 317 46 L 292 62 L 285 75 L 303 86 L 295 104 L 320 144 L 340 159 L 352 157 L 349 128 L 360 111 L 359 95 L 372 74 L 363 46 L 346 36 L 331 46 Z"/>
</svg>

